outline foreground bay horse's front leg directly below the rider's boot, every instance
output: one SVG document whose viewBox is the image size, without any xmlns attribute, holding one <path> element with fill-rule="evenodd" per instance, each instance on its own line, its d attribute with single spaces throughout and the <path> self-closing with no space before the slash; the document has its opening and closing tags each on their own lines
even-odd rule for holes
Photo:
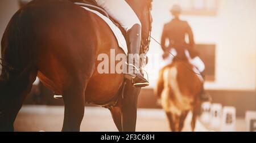
<svg viewBox="0 0 256 143">
<path fill-rule="evenodd" d="M 141 88 L 134 88 L 130 81 L 127 81 L 123 99 L 120 100 L 122 112 L 123 132 L 135 132 L 137 122 L 137 101 Z"/>
</svg>

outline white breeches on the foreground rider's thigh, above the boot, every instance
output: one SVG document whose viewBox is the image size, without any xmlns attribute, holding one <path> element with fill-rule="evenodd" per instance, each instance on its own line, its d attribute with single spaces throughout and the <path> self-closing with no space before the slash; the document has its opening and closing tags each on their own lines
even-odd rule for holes
<svg viewBox="0 0 256 143">
<path fill-rule="evenodd" d="M 125 0 L 95 0 L 108 14 L 125 29 L 129 31 L 135 24 L 141 25 L 141 21 L 133 9 Z"/>
</svg>

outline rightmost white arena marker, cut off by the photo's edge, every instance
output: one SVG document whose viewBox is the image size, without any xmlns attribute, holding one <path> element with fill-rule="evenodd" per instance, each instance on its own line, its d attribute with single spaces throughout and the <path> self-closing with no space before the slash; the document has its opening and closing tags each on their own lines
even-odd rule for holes
<svg viewBox="0 0 256 143">
<path fill-rule="evenodd" d="M 247 111 L 245 114 L 246 131 L 256 132 L 256 111 Z"/>
</svg>

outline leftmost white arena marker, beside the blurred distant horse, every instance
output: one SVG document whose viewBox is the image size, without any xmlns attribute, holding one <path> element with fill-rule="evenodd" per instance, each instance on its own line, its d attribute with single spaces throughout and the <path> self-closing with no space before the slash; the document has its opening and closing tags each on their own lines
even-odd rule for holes
<svg viewBox="0 0 256 143">
<path fill-rule="evenodd" d="M 210 102 L 204 102 L 201 105 L 201 122 L 205 124 L 210 123 Z"/>
</svg>

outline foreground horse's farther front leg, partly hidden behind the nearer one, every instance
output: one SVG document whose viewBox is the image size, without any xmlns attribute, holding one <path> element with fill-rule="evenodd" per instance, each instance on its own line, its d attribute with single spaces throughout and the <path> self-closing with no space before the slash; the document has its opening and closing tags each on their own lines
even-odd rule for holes
<svg viewBox="0 0 256 143">
<path fill-rule="evenodd" d="M 121 108 L 120 107 L 112 107 L 109 109 L 111 114 L 112 114 L 112 118 L 114 120 L 115 125 L 117 126 L 117 129 L 119 132 L 123 131 L 123 127 L 122 127 L 122 112 L 121 112 Z"/>
</svg>

